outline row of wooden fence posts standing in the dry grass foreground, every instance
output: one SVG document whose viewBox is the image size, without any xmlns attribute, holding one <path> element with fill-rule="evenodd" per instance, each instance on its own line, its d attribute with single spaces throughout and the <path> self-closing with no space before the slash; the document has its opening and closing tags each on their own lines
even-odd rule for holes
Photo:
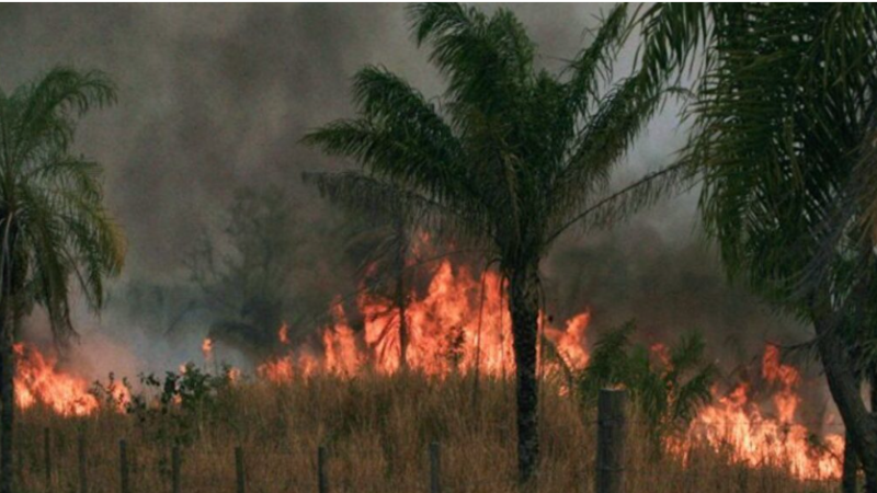
<svg viewBox="0 0 877 493">
<path fill-rule="evenodd" d="M 624 390 L 603 390 L 597 404 L 597 450 L 594 467 L 594 491 L 596 493 L 620 493 L 624 491 L 624 442 L 626 433 L 626 402 Z M 45 468 L 46 491 L 53 491 L 53 473 L 56 462 L 53 457 L 53 436 L 50 428 L 44 429 L 43 436 L 43 467 Z M 76 454 L 78 466 L 78 484 L 76 493 L 93 493 L 89 485 L 89 447 L 84 428 L 80 427 L 76 438 Z M 426 456 L 429 460 L 429 478 L 420 491 L 429 493 L 451 493 L 442 481 L 442 448 L 441 444 L 429 444 Z M 234 470 L 236 493 L 247 492 L 247 467 L 244 449 L 240 446 L 234 450 Z M 185 493 L 182 478 L 185 474 L 184 449 L 174 446 L 171 449 L 170 478 L 171 493 Z M 130 454 L 128 442 L 118 442 L 118 485 L 119 493 L 132 493 L 130 481 Z M 326 446 L 316 450 L 316 491 L 317 493 L 331 493 L 332 482 L 329 474 L 329 454 Z M 231 466 L 231 465 L 229 465 Z M 230 490 L 229 485 L 229 490 Z"/>
</svg>

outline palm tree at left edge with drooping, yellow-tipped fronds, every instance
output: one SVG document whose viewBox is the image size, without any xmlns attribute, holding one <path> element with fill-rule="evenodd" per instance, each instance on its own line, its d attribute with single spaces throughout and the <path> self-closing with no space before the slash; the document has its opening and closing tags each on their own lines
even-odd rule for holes
<svg viewBox="0 0 877 493">
<path fill-rule="evenodd" d="M 92 307 L 104 278 L 119 272 L 121 231 L 103 207 L 101 168 L 70 151 L 77 118 L 115 100 L 101 72 L 56 68 L 0 91 L 0 492 L 12 492 L 15 353 L 21 319 L 33 306 L 48 314 L 55 340 L 76 332 L 71 279 Z"/>
</svg>

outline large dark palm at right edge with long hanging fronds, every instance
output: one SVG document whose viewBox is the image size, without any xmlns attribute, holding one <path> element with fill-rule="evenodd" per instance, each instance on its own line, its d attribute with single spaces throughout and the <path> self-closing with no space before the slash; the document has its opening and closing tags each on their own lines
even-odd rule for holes
<svg viewBox="0 0 877 493">
<path fill-rule="evenodd" d="M 877 492 L 877 421 L 859 392 L 864 362 L 850 351 L 851 341 L 873 345 L 862 323 L 875 321 L 877 296 L 877 7 L 658 4 L 642 26 L 649 87 L 688 67 L 699 76 L 681 162 L 703 176 L 707 233 L 732 278 L 812 323 Z"/>
</svg>

